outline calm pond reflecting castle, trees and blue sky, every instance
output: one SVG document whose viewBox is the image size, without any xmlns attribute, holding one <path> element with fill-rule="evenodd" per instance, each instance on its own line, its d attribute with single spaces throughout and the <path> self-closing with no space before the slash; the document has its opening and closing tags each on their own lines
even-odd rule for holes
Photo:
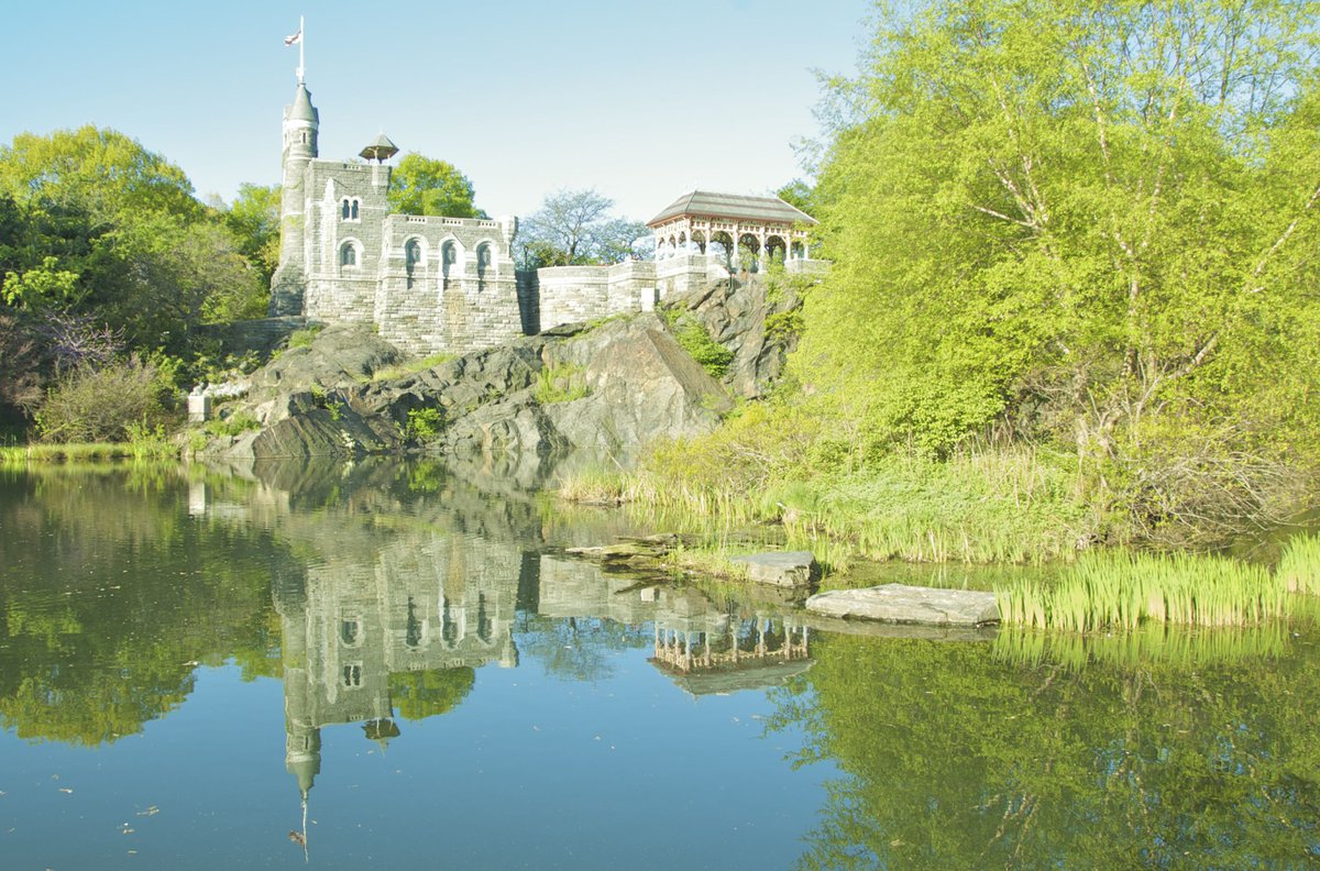
<svg viewBox="0 0 1320 871">
<path fill-rule="evenodd" d="M 4 867 L 1320 862 L 1309 620 L 867 633 L 603 575 L 541 476 L 0 472 Z"/>
</svg>

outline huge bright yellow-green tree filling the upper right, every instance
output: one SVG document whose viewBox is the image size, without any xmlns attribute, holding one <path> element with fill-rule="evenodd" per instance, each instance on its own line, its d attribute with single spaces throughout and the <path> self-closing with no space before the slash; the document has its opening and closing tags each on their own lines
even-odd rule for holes
<svg viewBox="0 0 1320 871">
<path fill-rule="evenodd" d="M 814 395 L 870 450 L 1074 445 L 1147 517 L 1315 459 L 1317 5 L 880 12 L 830 86 Z"/>
</svg>

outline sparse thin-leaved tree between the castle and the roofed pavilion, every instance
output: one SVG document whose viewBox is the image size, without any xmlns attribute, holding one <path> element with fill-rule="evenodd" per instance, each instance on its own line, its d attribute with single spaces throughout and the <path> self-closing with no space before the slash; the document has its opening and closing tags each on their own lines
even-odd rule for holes
<svg viewBox="0 0 1320 871">
<path fill-rule="evenodd" d="M 523 269 L 578 267 L 626 260 L 645 224 L 612 214 L 614 201 L 595 190 L 558 190 L 521 222 L 517 260 Z"/>
</svg>

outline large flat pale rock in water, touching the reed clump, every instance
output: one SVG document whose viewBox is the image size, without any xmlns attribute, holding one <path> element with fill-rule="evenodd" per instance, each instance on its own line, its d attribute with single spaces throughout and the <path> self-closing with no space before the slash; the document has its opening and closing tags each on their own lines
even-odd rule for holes
<svg viewBox="0 0 1320 871">
<path fill-rule="evenodd" d="M 921 626 L 985 626 L 999 622 L 999 607 L 993 593 L 936 590 L 904 583 L 817 593 L 807 599 L 807 610 L 836 618 Z"/>
</svg>

